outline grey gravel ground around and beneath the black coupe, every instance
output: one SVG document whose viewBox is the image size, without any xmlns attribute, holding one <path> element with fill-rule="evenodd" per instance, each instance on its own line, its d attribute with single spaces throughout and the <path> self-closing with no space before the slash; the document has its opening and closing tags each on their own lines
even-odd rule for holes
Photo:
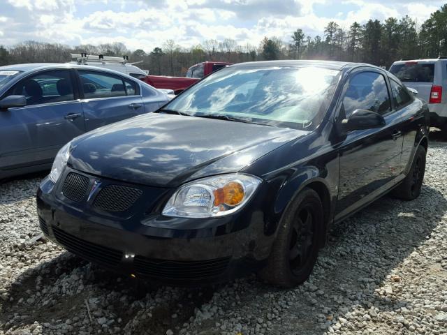
<svg viewBox="0 0 447 335">
<path fill-rule="evenodd" d="M 436 138 L 436 136 L 435 136 Z M 39 178 L 0 185 L 0 335 L 447 334 L 447 143 L 432 142 L 418 200 L 385 197 L 336 225 L 309 281 L 256 276 L 156 286 L 40 237 Z"/>
</svg>

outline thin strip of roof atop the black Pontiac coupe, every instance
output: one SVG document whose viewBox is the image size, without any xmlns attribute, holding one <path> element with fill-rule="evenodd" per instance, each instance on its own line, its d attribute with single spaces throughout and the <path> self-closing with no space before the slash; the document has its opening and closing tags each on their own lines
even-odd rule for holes
<svg viewBox="0 0 447 335">
<path fill-rule="evenodd" d="M 319 60 L 281 60 L 281 61 L 248 61 L 238 63 L 230 67 L 253 67 L 253 66 L 316 66 L 321 68 L 330 68 L 332 70 L 342 70 L 342 68 L 355 68 L 358 66 L 377 66 L 365 63 L 354 63 L 346 61 L 319 61 Z"/>
</svg>

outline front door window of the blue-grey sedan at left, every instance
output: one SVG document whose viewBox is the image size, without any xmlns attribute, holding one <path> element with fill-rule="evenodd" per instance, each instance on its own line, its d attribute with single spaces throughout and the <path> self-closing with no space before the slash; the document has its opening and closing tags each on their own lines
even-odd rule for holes
<svg viewBox="0 0 447 335">
<path fill-rule="evenodd" d="M 27 105 L 73 101 L 73 85 L 68 70 L 52 70 L 31 75 L 12 87 L 7 96 L 27 98 Z"/>
</svg>

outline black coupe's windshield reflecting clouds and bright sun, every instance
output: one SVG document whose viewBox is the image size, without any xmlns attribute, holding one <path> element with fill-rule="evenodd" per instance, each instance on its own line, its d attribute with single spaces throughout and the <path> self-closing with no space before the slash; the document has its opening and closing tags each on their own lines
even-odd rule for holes
<svg viewBox="0 0 447 335">
<path fill-rule="evenodd" d="M 223 68 L 165 108 L 310 131 L 323 119 L 339 73 L 309 66 Z"/>
</svg>

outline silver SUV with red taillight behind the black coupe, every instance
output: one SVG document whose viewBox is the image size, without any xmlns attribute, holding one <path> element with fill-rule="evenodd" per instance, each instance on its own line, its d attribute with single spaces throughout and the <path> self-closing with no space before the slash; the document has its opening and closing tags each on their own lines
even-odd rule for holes
<svg viewBox="0 0 447 335">
<path fill-rule="evenodd" d="M 395 61 L 390 73 L 418 91 L 418 98 L 428 102 L 430 126 L 447 133 L 447 57 Z"/>
</svg>

